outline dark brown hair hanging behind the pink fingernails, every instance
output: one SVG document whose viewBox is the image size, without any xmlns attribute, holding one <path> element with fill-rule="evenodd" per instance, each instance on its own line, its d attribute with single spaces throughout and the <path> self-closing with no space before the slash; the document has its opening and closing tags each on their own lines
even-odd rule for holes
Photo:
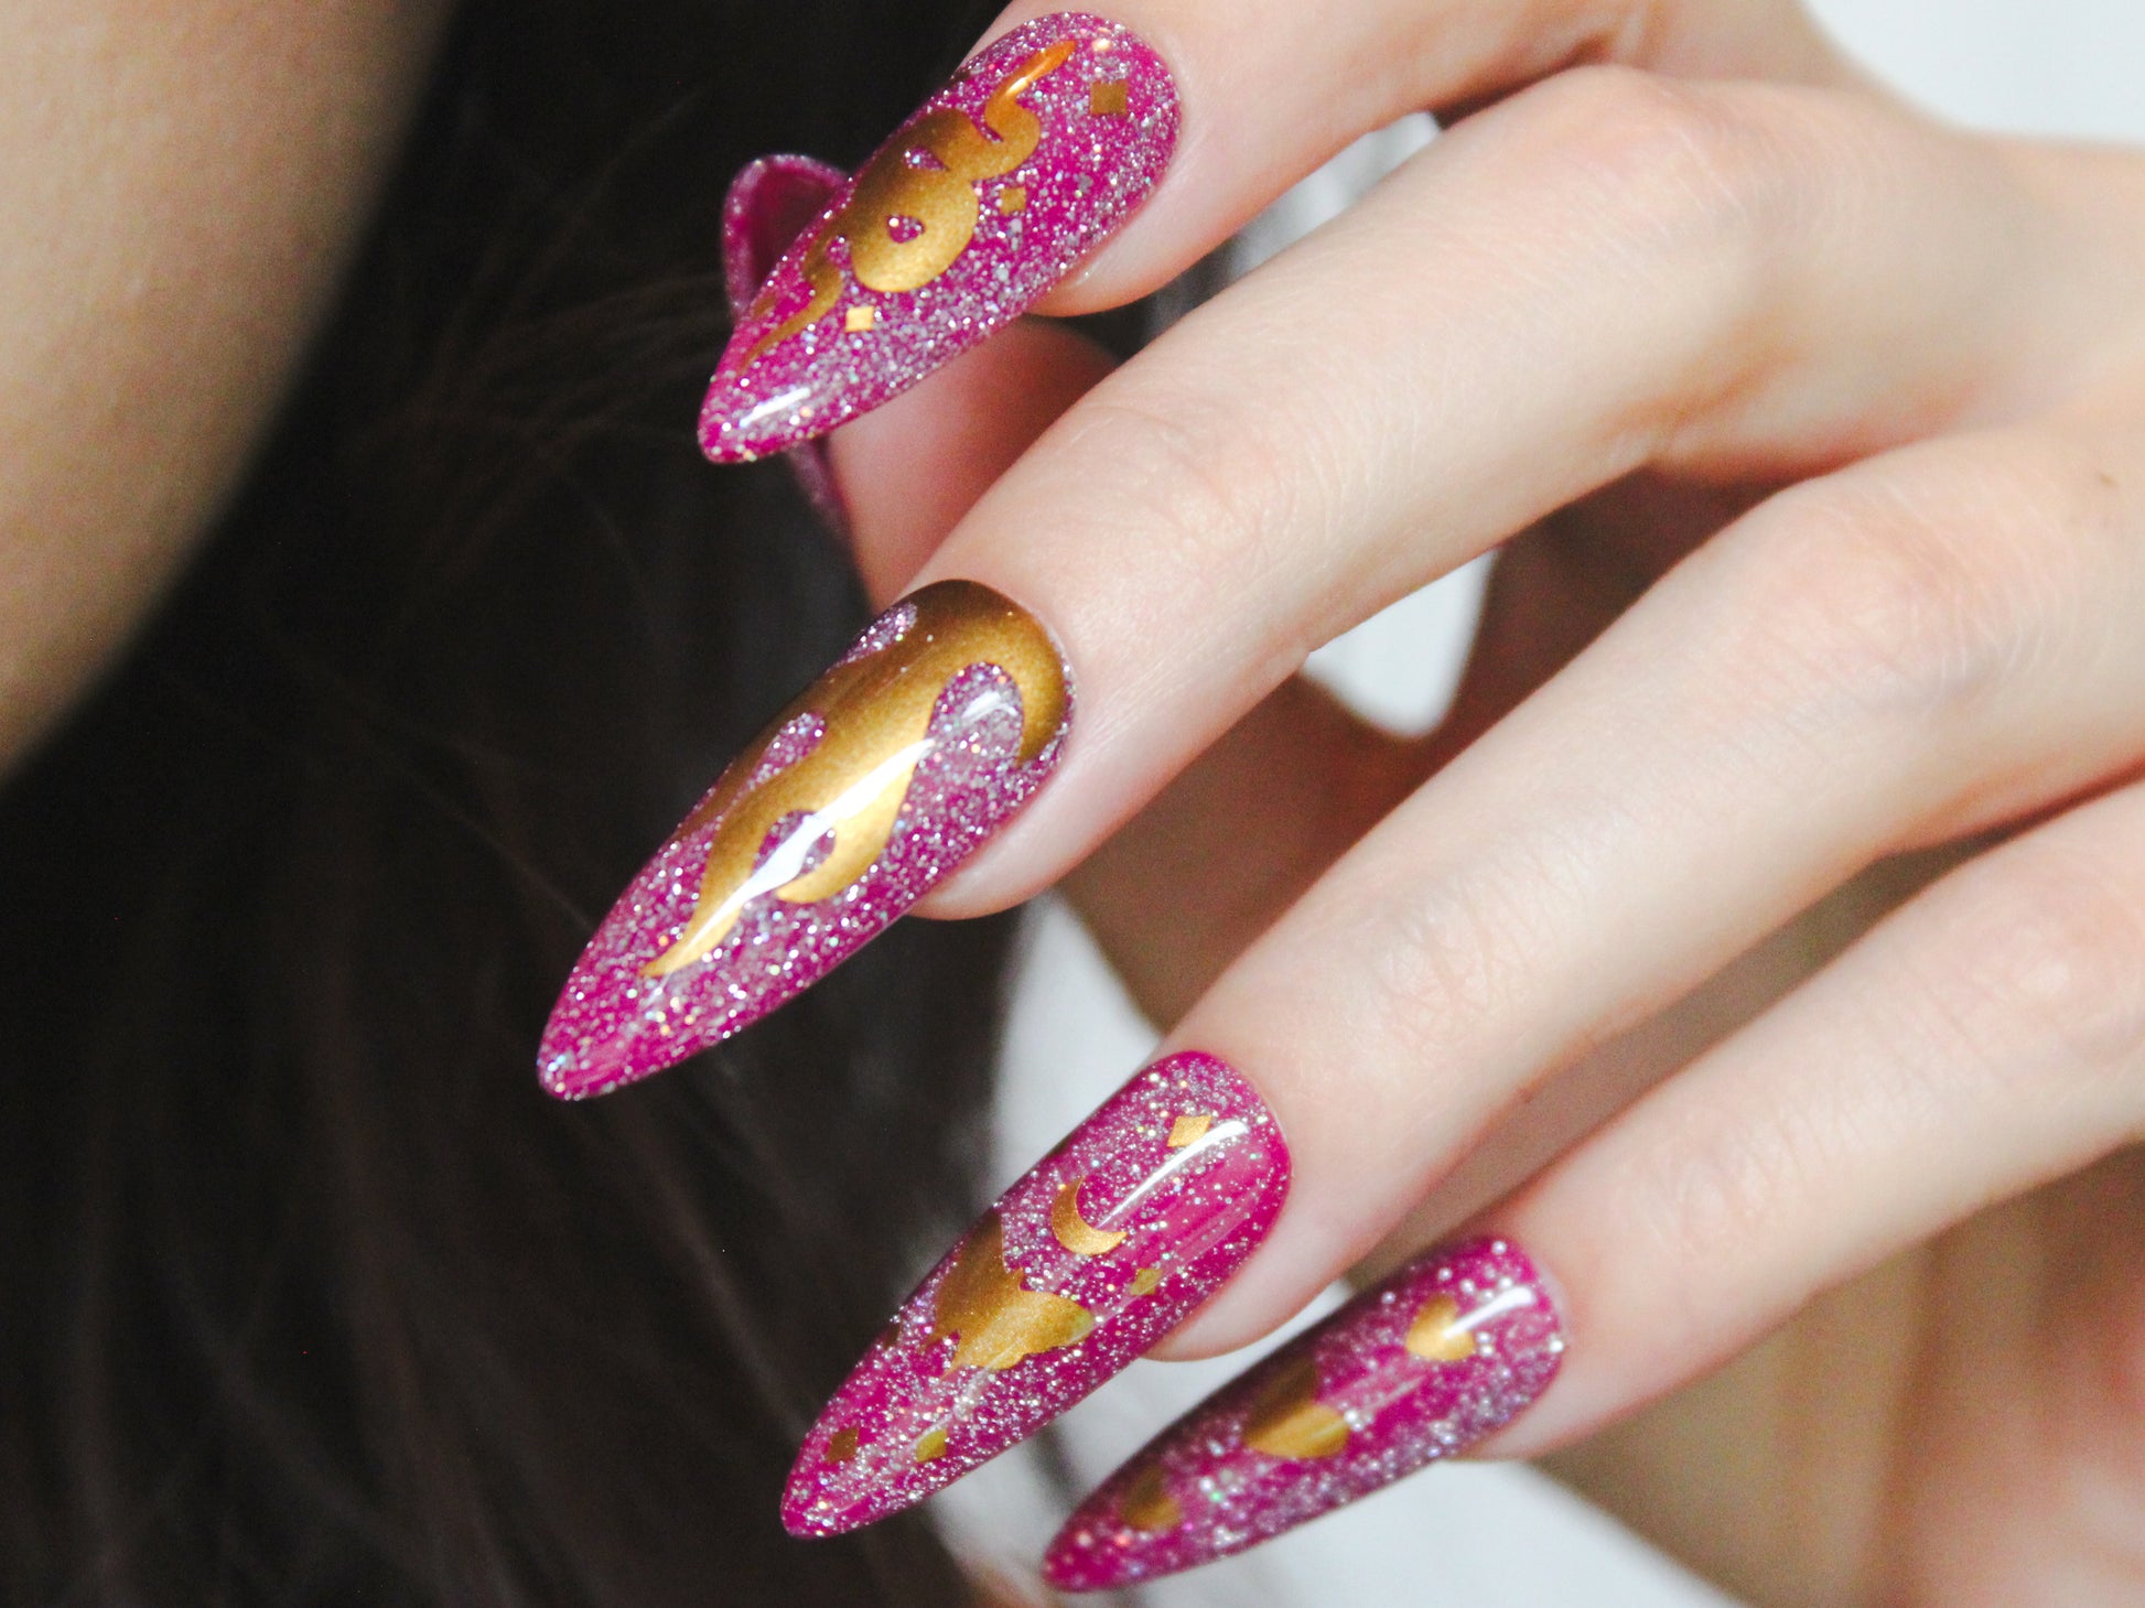
<svg viewBox="0 0 2145 1608">
<path fill-rule="evenodd" d="M 796 1439 L 972 1203 L 1002 922 L 909 922 L 588 1106 L 579 941 L 862 605 L 693 450 L 716 208 L 976 6 L 487 0 L 127 665 L 0 795 L 15 1604 L 937 1604 Z"/>
</svg>

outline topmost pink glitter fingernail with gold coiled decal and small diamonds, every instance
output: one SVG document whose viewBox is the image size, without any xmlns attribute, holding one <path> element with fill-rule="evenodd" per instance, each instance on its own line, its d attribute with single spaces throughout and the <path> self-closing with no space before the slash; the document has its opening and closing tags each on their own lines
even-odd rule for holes
<svg viewBox="0 0 2145 1608">
<path fill-rule="evenodd" d="M 699 416 L 734 463 L 822 435 L 1019 317 L 1154 189 L 1169 69 L 1079 11 L 974 56 L 858 169 L 738 319 Z"/>
</svg>

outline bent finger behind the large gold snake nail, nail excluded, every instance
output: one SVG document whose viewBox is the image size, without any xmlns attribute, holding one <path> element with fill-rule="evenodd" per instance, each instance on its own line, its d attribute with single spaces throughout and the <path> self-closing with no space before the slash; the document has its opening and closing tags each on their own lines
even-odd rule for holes
<svg viewBox="0 0 2145 1608">
<path fill-rule="evenodd" d="M 2115 324 L 2079 283 L 2109 249 L 2063 236 L 1986 150 L 1806 90 L 1566 75 L 1439 139 L 1096 386 L 924 568 L 1047 620 L 1081 686 L 940 911 L 1055 881 L 1313 645 L 1641 465 L 1787 478 L 2021 412 Z"/>
</svg>

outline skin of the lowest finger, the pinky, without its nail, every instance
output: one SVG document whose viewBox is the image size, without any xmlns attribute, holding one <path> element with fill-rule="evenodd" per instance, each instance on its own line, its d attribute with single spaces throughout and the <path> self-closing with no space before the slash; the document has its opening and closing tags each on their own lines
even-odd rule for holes
<svg viewBox="0 0 2145 1608">
<path fill-rule="evenodd" d="M 2132 785 L 1939 881 L 1499 1214 L 1553 1259 L 1574 1334 L 1502 1449 L 1572 1441 L 2141 1136 Z"/>
</svg>

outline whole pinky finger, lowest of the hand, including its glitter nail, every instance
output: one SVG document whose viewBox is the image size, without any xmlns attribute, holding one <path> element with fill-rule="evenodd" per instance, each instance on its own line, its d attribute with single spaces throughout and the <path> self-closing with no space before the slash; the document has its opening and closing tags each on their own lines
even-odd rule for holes
<svg viewBox="0 0 2145 1608">
<path fill-rule="evenodd" d="M 1422 1256 L 1195 1406 L 1081 1505 L 1047 1572 L 1126 1584 L 1489 1436 L 1555 1449 L 2141 1134 L 2132 785 L 1920 894 L 1499 1207 L 1495 1239 Z"/>
</svg>

